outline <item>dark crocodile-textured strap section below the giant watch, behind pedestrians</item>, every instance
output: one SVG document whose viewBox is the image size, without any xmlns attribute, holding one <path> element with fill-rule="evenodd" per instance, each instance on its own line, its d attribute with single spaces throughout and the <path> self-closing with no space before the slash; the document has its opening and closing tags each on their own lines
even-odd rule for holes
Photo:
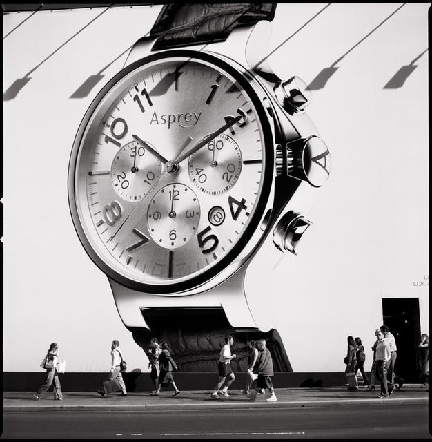
<svg viewBox="0 0 432 442">
<path fill-rule="evenodd" d="M 225 336 L 234 338 L 231 361 L 235 372 L 248 369 L 248 340 L 264 338 L 270 350 L 275 372 L 292 372 L 284 345 L 275 329 L 260 332 L 254 329 L 234 329 L 222 308 L 141 309 L 150 329 L 132 329 L 135 342 L 144 349 L 150 347 L 150 338 L 166 341 L 170 354 L 181 372 L 217 372 L 219 352 L 225 345 Z"/>
</svg>

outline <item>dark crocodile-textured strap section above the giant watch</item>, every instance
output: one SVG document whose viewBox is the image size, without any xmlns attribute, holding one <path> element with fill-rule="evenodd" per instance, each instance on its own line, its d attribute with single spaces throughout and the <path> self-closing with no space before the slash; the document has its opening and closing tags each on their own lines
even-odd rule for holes
<svg viewBox="0 0 432 442">
<path fill-rule="evenodd" d="M 162 8 L 150 30 L 152 50 L 224 41 L 236 26 L 273 20 L 276 3 L 184 3 Z"/>
</svg>

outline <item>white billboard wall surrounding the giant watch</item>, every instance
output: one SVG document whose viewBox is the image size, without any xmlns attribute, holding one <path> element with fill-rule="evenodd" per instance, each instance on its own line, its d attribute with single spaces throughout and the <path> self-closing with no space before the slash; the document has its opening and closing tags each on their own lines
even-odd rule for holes
<svg viewBox="0 0 432 442">
<path fill-rule="evenodd" d="M 270 50 L 295 34 L 269 59 L 282 77 L 310 84 L 402 3 L 331 4 L 295 33 L 326 4 L 277 6 Z M 415 284 L 429 278 L 429 52 L 401 88 L 384 85 L 426 50 L 429 6 L 406 4 L 313 91 L 308 113 L 331 148 L 331 178 L 298 256 L 285 256 L 263 276 L 264 250 L 246 283 L 251 309 L 275 323 L 295 371 L 341 370 L 348 334 L 370 347 L 383 297 L 420 298 L 428 332 L 429 285 Z M 106 371 L 113 339 L 130 369 L 147 370 L 108 280 L 79 243 L 67 172 L 81 117 L 126 55 L 110 63 L 150 30 L 160 8 L 108 10 L 43 64 L 104 9 L 37 12 L 3 39 L 4 90 L 41 64 L 17 97 L 3 102 L 6 372 L 37 371 L 52 341 L 68 371 Z M 4 15 L 3 35 L 28 15 Z M 88 97 L 69 98 L 108 64 Z M 268 299 L 271 308 L 262 308 Z"/>
</svg>

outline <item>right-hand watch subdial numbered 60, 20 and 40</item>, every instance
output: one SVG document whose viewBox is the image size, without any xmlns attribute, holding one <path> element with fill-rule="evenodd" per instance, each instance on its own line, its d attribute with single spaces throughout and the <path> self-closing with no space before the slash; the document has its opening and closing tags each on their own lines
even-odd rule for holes
<svg viewBox="0 0 432 442">
<path fill-rule="evenodd" d="M 209 195 L 232 189 L 242 171 L 242 152 L 233 138 L 217 135 L 190 155 L 189 176 L 197 188 Z"/>
</svg>

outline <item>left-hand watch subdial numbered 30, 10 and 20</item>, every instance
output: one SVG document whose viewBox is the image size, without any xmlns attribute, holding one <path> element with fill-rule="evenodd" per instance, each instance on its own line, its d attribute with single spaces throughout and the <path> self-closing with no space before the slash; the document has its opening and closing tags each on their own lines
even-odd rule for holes
<svg viewBox="0 0 432 442">
<path fill-rule="evenodd" d="M 144 198 L 161 175 L 161 162 L 137 141 L 123 146 L 111 166 L 111 182 L 124 200 Z"/>
</svg>

